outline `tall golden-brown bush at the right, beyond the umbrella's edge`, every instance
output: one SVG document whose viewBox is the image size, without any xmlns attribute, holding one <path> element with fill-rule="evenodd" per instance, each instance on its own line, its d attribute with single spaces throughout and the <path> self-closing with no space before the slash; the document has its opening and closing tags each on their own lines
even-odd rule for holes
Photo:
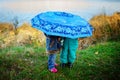
<svg viewBox="0 0 120 80">
<path fill-rule="evenodd" d="M 95 41 L 107 41 L 120 39 L 120 13 L 112 16 L 98 15 L 90 20 L 95 28 L 93 37 Z"/>
</svg>

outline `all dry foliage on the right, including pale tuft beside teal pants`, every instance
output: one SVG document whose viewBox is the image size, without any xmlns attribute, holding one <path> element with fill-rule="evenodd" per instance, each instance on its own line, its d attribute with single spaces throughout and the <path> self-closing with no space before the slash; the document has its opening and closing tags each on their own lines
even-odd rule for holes
<svg viewBox="0 0 120 80">
<path fill-rule="evenodd" d="M 91 44 L 109 40 L 120 40 L 120 12 L 111 16 L 100 14 L 90 19 L 93 26 L 93 36 L 79 40 L 79 49 L 84 49 Z"/>
</svg>

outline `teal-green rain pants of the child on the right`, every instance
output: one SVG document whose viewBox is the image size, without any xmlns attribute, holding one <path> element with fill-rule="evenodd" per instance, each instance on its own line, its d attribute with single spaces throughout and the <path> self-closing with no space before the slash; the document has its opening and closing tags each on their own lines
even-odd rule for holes
<svg viewBox="0 0 120 80">
<path fill-rule="evenodd" d="M 76 50 L 78 48 L 78 39 L 65 38 L 63 48 L 60 53 L 61 63 L 73 63 L 76 59 Z"/>
</svg>

